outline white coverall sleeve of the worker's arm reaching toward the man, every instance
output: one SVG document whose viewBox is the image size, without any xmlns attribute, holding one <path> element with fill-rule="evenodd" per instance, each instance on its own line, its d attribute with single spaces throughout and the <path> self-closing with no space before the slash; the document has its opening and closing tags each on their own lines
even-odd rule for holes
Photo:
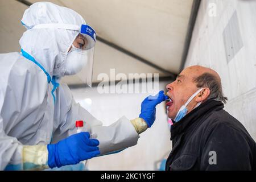
<svg viewBox="0 0 256 182">
<path fill-rule="evenodd" d="M 93 138 L 100 141 L 100 155 L 123 150 L 137 144 L 139 135 L 135 127 L 126 117 L 118 119 L 110 126 L 102 126 L 102 122 L 94 118 L 87 110 L 72 99 L 72 104 L 66 115 L 66 120 L 60 123 L 53 135 L 52 143 L 67 138 L 76 133 L 75 121 L 83 120 L 82 131 L 89 132 Z"/>
</svg>

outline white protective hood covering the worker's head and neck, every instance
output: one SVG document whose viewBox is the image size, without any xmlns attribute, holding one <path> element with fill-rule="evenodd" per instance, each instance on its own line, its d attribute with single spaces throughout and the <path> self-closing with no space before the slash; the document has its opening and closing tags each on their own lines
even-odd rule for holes
<svg viewBox="0 0 256 182">
<path fill-rule="evenodd" d="M 22 18 L 27 28 L 19 40 L 21 48 L 30 54 L 51 76 L 63 77 L 67 52 L 79 31 L 58 28 L 33 28 L 40 24 L 86 24 L 81 15 L 67 7 L 51 2 L 37 2 L 31 5 Z"/>
</svg>

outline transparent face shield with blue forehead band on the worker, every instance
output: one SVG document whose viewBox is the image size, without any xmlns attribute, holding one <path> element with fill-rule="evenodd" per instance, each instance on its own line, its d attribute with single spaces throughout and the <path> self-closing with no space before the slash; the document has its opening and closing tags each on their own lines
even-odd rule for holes
<svg viewBox="0 0 256 182">
<path fill-rule="evenodd" d="M 64 79 L 69 85 L 92 88 L 95 43 L 96 32 L 87 24 L 82 24 L 79 35 L 67 53 Z"/>
</svg>

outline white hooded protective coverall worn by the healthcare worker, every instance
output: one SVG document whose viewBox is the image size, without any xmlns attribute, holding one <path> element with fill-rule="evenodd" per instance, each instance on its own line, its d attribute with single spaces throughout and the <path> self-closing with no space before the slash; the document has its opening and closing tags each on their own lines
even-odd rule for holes
<svg viewBox="0 0 256 182">
<path fill-rule="evenodd" d="M 67 50 L 77 32 L 33 27 L 45 23 L 80 26 L 85 20 L 71 9 L 39 2 L 25 11 L 22 23 L 28 30 L 19 41 L 21 48 L 33 56 L 51 77 L 64 76 Z M 57 87 L 54 102 L 53 85 L 48 83 L 46 73 L 21 53 L 0 54 L 0 69 L 1 170 L 25 169 L 25 163 L 47 166 L 47 154 L 43 152 L 44 156 L 40 156 L 42 147 L 45 151 L 47 144 L 75 134 L 76 120 L 85 121 L 84 131 L 97 136 L 101 155 L 137 144 L 140 132 L 135 130 L 136 122 L 122 117 L 110 126 L 102 126 L 101 121 L 76 104 L 66 84 Z M 35 162 L 31 159 L 33 155 L 39 155 L 41 160 Z"/>
</svg>

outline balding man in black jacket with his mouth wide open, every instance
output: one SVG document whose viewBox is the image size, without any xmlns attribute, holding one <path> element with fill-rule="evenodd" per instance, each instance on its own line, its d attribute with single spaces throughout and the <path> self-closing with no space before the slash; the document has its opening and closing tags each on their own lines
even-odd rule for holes
<svg viewBox="0 0 256 182">
<path fill-rule="evenodd" d="M 224 110 L 228 99 L 217 72 L 188 67 L 166 89 L 173 122 L 166 170 L 255 170 L 256 144 Z"/>
</svg>

